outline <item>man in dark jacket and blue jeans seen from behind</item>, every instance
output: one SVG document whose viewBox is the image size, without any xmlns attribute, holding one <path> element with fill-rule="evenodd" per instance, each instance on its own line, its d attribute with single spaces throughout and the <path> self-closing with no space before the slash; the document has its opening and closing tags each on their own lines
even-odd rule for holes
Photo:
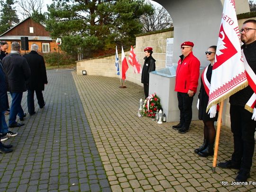
<svg viewBox="0 0 256 192">
<path fill-rule="evenodd" d="M 26 82 L 30 77 L 30 68 L 27 60 L 20 55 L 18 42 L 11 43 L 10 54 L 3 58 L 3 67 L 7 72 L 9 92 L 12 98 L 9 127 L 19 127 L 24 124 L 16 122 L 16 116 L 18 114 L 20 120 L 26 116 L 21 107 L 21 100 L 23 92 L 27 91 Z"/>
</svg>

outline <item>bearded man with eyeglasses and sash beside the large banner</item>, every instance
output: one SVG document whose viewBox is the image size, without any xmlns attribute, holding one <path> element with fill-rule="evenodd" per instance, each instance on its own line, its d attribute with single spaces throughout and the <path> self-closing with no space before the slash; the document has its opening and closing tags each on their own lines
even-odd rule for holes
<svg viewBox="0 0 256 192">
<path fill-rule="evenodd" d="M 242 52 L 245 57 L 244 64 L 250 68 L 247 70 L 247 77 L 256 82 L 256 20 L 249 19 L 243 23 L 241 33 Z M 235 64 L 234 64 L 235 67 Z M 250 169 L 252 166 L 252 158 L 255 148 L 255 127 L 256 127 L 256 109 L 253 109 L 253 114 L 247 109 L 252 109 L 253 105 L 248 105 L 249 100 L 253 98 L 256 93 L 255 83 L 251 83 L 248 79 L 249 85 L 233 94 L 229 98 L 230 103 L 230 122 L 231 131 L 234 137 L 234 152 L 230 160 L 221 162 L 217 166 L 221 168 L 238 169 L 236 182 L 245 182 L 250 176 Z M 253 102 L 256 100 L 254 99 Z M 250 106 L 250 107 L 249 107 Z M 247 108 L 247 109 L 245 109 Z"/>
</svg>

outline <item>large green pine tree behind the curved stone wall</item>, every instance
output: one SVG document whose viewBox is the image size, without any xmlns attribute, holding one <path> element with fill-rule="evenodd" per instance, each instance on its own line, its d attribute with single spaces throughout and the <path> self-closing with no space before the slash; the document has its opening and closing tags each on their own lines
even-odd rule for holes
<svg viewBox="0 0 256 192">
<path fill-rule="evenodd" d="M 142 32 L 139 17 L 153 8 L 144 0 L 58 0 L 48 11 L 46 29 L 62 38 L 62 50 L 92 57 L 133 45 Z"/>
</svg>

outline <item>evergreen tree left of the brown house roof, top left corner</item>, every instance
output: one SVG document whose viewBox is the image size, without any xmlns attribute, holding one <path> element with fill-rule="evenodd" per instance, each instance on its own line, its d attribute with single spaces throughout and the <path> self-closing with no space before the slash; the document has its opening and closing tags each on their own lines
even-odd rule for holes
<svg viewBox="0 0 256 192">
<path fill-rule="evenodd" d="M 19 19 L 14 7 L 14 0 L 1 1 L 0 4 L 0 34 L 2 34 L 9 30 L 14 25 L 18 24 Z"/>
</svg>

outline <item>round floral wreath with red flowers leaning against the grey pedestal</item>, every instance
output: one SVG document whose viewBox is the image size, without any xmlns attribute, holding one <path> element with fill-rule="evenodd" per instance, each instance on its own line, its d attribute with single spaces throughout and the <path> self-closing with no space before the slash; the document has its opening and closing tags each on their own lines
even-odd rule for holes
<svg viewBox="0 0 256 192">
<path fill-rule="evenodd" d="M 155 93 L 149 95 L 144 101 L 143 116 L 155 118 L 156 111 L 162 109 L 160 98 Z"/>
</svg>

